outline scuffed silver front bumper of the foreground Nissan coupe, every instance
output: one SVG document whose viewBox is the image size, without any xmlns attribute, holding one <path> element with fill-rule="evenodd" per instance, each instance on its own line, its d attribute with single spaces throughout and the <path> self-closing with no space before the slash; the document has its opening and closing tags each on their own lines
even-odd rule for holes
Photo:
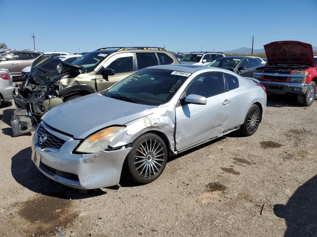
<svg viewBox="0 0 317 237">
<path fill-rule="evenodd" d="M 48 133 L 65 141 L 58 150 L 41 148 L 38 143 L 39 129 L 35 132 L 32 140 L 32 160 L 44 175 L 77 189 L 97 189 L 119 183 L 123 162 L 131 148 L 73 154 L 80 140 L 58 133 L 43 122 L 41 125 Z M 35 153 L 40 160 L 34 159 Z"/>
</svg>

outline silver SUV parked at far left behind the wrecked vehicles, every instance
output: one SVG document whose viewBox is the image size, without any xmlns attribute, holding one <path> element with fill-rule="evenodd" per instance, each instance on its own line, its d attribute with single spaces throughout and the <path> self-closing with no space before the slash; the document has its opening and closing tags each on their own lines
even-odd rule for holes
<svg viewBox="0 0 317 237">
<path fill-rule="evenodd" d="M 0 68 L 7 69 L 13 77 L 20 77 L 21 71 L 31 66 L 43 53 L 31 50 L 6 50 L 0 52 Z"/>
</svg>

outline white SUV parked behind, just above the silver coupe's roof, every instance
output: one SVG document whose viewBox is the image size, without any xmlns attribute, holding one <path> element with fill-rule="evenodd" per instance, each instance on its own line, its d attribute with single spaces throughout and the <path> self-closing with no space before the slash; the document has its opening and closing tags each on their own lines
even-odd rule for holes
<svg viewBox="0 0 317 237">
<path fill-rule="evenodd" d="M 208 65 L 217 58 L 225 57 L 220 52 L 191 52 L 183 57 L 179 62 L 181 64 Z"/>
</svg>

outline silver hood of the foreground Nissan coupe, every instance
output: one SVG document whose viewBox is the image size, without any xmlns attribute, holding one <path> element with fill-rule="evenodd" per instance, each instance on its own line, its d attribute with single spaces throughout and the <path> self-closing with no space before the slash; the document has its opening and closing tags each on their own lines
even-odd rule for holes
<svg viewBox="0 0 317 237">
<path fill-rule="evenodd" d="M 104 127 L 122 125 L 150 115 L 156 108 L 94 93 L 56 106 L 42 119 L 54 129 L 84 139 Z"/>
</svg>

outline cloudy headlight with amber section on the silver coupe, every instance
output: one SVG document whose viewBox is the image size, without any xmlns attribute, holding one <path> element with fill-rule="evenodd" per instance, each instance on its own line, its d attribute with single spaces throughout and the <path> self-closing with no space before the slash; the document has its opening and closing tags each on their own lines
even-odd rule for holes
<svg viewBox="0 0 317 237">
<path fill-rule="evenodd" d="M 105 150 L 124 127 L 107 127 L 86 138 L 76 149 L 80 153 L 94 153 Z"/>
</svg>

